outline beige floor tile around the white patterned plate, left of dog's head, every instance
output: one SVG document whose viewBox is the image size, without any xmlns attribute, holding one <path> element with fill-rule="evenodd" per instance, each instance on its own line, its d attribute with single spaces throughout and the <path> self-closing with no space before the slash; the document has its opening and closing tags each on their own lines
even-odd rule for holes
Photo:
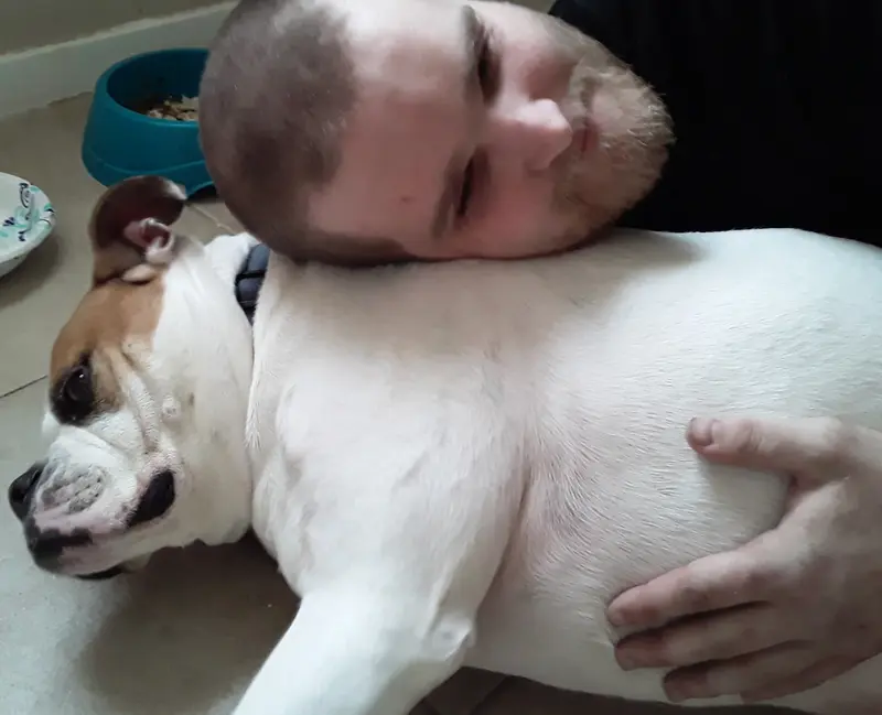
<svg viewBox="0 0 882 715">
<path fill-rule="evenodd" d="M 104 188 L 79 159 L 89 97 L 0 122 L 0 171 L 39 185 L 55 205 L 55 232 L 13 273 L 0 279 L 0 394 L 45 375 L 61 325 L 88 285 L 88 217 Z M 181 230 L 208 238 L 222 229 L 187 210 Z"/>
</svg>

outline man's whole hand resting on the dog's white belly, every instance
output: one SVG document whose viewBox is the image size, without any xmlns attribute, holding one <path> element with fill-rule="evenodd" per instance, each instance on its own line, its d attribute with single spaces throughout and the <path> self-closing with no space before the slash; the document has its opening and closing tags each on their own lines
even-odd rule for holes
<svg viewBox="0 0 882 715">
<path fill-rule="evenodd" d="M 675 702 L 771 700 L 882 652 L 882 433 L 836 420 L 696 420 L 711 462 L 793 476 L 781 524 L 633 588 L 610 606 L 636 629 L 620 664 L 673 668 Z"/>
</svg>

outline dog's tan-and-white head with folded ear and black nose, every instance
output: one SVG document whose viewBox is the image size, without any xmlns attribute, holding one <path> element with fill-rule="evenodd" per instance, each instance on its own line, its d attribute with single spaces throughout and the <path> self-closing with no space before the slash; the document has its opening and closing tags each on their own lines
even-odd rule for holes
<svg viewBox="0 0 882 715">
<path fill-rule="evenodd" d="M 183 208 L 175 184 L 138 177 L 93 214 L 93 284 L 52 349 L 51 443 L 9 489 L 47 571 L 110 575 L 248 528 L 251 337 L 233 290 L 248 239 L 176 235 Z"/>
</svg>

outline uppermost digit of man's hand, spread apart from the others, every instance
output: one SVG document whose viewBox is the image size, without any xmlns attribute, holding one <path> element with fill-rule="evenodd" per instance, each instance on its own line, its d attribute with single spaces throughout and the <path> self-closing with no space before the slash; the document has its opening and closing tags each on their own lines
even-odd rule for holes
<svg viewBox="0 0 882 715">
<path fill-rule="evenodd" d="M 853 449 L 857 431 L 839 420 L 696 419 L 690 446 L 711 462 L 785 472 L 796 477 L 830 479 Z"/>
</svg>

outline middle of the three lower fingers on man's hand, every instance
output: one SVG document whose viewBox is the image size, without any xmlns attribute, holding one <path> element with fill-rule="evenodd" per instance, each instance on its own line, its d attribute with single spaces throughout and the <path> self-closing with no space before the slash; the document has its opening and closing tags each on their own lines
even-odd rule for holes
<svg viewBox="0 0 882 715">
<path fill-rule="evenodd" d="M 790 637 L 788 619 L 768 604 L 754 604 L 631 636 L 615 656 L 624 670 L 682 668 L 765 650 Z"/>
</svg>

